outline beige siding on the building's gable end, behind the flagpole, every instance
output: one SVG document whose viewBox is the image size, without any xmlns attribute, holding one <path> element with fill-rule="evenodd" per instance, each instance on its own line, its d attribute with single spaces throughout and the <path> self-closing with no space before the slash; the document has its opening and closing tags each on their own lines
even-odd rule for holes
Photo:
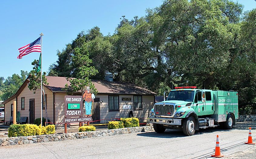
<svg viewBox="0 0 256 159">
<path fill-rule="evenodd" d="M 53 94 L 47 88 L 44 88 L 45 94 L 47 94 L 47 114 L 48 119 L 53 121 Z M 21 110 L 21 98 L 25 97 L 25 110 Z M 35 99 L 35 119 L 41 118 L 41 93 L 36 91 L 34 94 L 33 91 L 30 91 L 28 85 L 23 89 L 23 91 L 17 97 L 17 111 L 20 112 L 21 117 L 28 117 L 29 121 L 29 99 Z M 5 121 L 9 121 L 11 117 L 11 104 L 16 100 L 14 98 L 12 101 L 9 101 L 5 104 Z M 43 110 L 43 117 L 45 118 L 45 110 Z"/>
</svg>

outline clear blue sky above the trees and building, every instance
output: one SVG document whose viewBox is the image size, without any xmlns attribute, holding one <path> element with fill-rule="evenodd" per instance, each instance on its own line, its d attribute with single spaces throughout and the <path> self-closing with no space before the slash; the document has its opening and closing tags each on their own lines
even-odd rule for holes
<svg viewBox="0 0 256 159">
<path fill-rule="evenodd" d="M 236 0 L 234 0 L 236 2 Z M 244 11 L 256 8 L 254 0 L 238 0 Z M 155 8 L 162 0 L 56 0 L 56 1 L 1 1 L 0 76 L 7 78 L 20 70 L 32 70 L 31 62 L 39 53 L 17 59 L 18 48 L 31 43 L 44 33 L 42 67 L 57 60 L 57 50 L 74 40 L 82 30 L 98 26 L 104 35 L 113 34 L 122 15 L 132 19 L 144 16 L 146 8 Z"/>
</svg>

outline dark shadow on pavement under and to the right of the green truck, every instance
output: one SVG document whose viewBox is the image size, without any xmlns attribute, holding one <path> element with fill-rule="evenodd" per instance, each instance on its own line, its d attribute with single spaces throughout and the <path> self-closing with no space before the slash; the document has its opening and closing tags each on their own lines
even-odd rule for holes
<svg viewBox="0 0 256 159">
<path fill-rule="evenodd" d="M 249 127 L 251 127 L 252 130 L 255 130 L 256 122 L 236 122 L 236 125 L 232 129 L 248 130 L 249 131 Z M 207 133 L 212 133 L 212 132 L 216 132 L 216 131 L 231 131 L 231 130 L 224 130 L 224 129 L 221 129 L 220 127 L 206 128 L 206 129 L 199 129 L 198 131 L 195 132 L 194 135 L 207 134 Z M 159 137 L 159 138 L 185 137 L 185 135 L 183 134 L 181 129 L 180 130 L 168 129 L 163 134 L 158 134 L 154 131 L 154 132 L 140 133 L 137 135 L 138 136 L 147 136 L 147 137 Z"/>
</svg>

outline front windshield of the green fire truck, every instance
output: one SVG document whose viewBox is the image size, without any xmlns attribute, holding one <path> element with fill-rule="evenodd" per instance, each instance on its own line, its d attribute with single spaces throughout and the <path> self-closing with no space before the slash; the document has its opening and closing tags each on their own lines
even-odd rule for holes
<svg viewBox="0 0 256 159">
<path fill-rule="evenodd" d="M 193 101 L 194 91 L 170 91 L 167 100 Z"/>
</svg>

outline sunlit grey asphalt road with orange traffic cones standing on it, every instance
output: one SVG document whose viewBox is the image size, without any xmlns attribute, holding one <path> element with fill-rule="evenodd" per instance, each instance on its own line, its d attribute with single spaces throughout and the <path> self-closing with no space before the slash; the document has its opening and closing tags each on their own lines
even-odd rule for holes
<svg viewBox="0 0 256 159">
<path fill-rule="evenodd" d="M 252 127 L 256 142 L 256 122 L 239 123 L 230 131 L 204 129 L 193 136 L 182 131 L 154 131 L 110 137 L 87 138 L 49 143 L 1 147 L 1 158 L 208 158 L 214 154 L 219 135 L 221 154 L 225 158 L 256 156 L 256 145 L 244 144 L 248 127 Z M 240 156 L 239 156 L 240 155 Z M 254 158 L 253 157 L 253 158 Z"/>
</svg>

